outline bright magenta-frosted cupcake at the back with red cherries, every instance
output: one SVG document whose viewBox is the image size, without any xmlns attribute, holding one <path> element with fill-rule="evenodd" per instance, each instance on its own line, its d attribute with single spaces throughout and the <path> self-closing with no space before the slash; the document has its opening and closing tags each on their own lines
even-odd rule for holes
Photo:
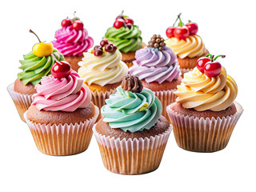
<svg viewBox="0 0 256 192">
<path fill-rule="evenodd" d="M 62 29 L 56 31 L 55 38 L 52 42 L 54 47 L 64 55 L 71 68 L 78 71 L 82 53 L 94 45 L 94 40 L 83 28 L 83 23 L 77 17 L 62 20 Z"/>
</svg>

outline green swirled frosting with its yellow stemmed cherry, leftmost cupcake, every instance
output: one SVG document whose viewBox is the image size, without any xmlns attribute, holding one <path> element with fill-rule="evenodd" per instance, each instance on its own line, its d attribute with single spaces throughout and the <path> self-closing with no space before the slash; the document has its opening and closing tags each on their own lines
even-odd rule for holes
<svg viewBox="0 0 256 192">
<path fill-rule="evenodd" d="M 34 34 L 32 30 L 30 33 Z M 43 76 L 50 74 L 54 58 L 58 61 L 64 60 L 63 55 L 54 49 L 51 43 L 41 42 L 39 38 L 38 40 L 39 43 L 33 46 L 33 50 L 29 54 L 23 55 L 24 60 L 19 61 L 22 64 L 19 69 L 23 71 L 18 73 L 18 79 L 22 80 L 25 86 L 29 82 L 35 86 Z"/>
</svg>

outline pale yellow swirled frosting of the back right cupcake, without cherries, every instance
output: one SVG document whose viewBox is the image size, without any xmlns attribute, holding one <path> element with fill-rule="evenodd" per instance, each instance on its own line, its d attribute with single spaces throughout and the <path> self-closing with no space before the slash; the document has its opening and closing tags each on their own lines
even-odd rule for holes
<svg viewBox="0 0 256 192">
<path fill-rule="evenodd" d="M 169 38 L 166 40 L 166 46 L 169 46 L 179 58 L 195 58 L 206 53 L 205 44 L 197 34 L 190 35 L 185 40 L 178 38 Z"/>
</svg>

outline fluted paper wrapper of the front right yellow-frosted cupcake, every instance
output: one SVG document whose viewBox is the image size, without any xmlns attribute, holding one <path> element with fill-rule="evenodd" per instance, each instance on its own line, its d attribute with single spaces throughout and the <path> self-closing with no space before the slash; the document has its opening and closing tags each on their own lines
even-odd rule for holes
<svg viewBox="0 0 256 192">
<path fill-rule="evenodd" d="M 242 106 L 234 102 L 237 112 L 222 118 L 194 118 L 174 112 L 167 106 L 173 125 L 174 137 L 179 147 L 194 152 L 214 152 L 224 149 L 230 141 L 234 126 L 242 114 Z"/>
</svg>

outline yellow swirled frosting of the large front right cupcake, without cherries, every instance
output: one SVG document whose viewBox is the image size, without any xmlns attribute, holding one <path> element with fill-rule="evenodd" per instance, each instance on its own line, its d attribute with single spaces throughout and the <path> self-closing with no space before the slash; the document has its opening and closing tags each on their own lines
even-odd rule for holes
<svg viewBox="0 0 256 192">
<path fill-rule="evenodd" d="M 181 103 L 184 108 L 203 111 L 225 110 L 234 102 L 238 94 L 238 86 L 234 79 L 226 75 L 222 66 L 222 72 L 217 77 L 209 78 L 197 67 L 184 74 L 182 84 L 177 86 L 174 93 L 178 96 L 176 102 Z"/>
</svg>

